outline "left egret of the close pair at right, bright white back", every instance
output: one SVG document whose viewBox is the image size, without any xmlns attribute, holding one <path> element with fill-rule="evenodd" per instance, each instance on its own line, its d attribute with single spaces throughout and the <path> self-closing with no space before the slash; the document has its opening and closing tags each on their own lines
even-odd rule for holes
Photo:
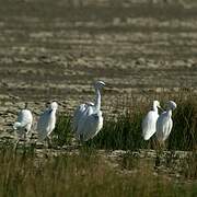
<svg viewBox="0 0 197 197">
<path fill-rule="evenodd" d="M 157 120 L 159 117 L 158 107 L 161 108 L 159 101 L 153 101 L 153 108 L 142 120 L 142 136 L 144 140 L 149 140 L 157 131 Z"/>
</svg>

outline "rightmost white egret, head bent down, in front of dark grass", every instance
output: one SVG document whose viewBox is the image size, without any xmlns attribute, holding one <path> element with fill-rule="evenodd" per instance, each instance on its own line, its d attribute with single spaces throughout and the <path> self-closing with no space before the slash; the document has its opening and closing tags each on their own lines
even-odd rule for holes
<svg viewBox="0 0 197 197">
<path fill-rule="evenodd" d="M 163 112 L 157 121 L 157 138 L 160 142 L 164 142 L 171 134 L 173 127 L 172 111 L 176 108 L 176 103 L 169 101 L 167 108 Z"/>
</svg>

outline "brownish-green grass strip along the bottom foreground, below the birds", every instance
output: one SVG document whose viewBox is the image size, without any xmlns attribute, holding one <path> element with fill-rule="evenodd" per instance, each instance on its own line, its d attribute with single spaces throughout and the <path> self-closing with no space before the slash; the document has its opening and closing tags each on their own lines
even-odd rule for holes
<svg viewBox="0 0 197 197">
<path fill-rule="evenodd" d="M 143 171 L 131 174 L 115 171 L 102 157 L 90 152 L 38 159 L 7 149 L 0 155 L 0 196 L 4 197 L 197 195 L 195 183 L 178 184 L 153 175 L 144 164 Z M 132 169 L 136 164 L 126 165 Z"/>
</svg>

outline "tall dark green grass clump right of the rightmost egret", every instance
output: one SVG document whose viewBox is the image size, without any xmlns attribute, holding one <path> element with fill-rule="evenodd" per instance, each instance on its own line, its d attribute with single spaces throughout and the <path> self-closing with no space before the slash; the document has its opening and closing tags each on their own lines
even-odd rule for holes
<svg viewBox="0 0 197 197">
<path fill-rule="evenodd" d="M 197 149 L 197 100 L 178 101 L 174 112 L 174 126 L 169 138 L 169 149 L 196 150 Z"/>
</svg>

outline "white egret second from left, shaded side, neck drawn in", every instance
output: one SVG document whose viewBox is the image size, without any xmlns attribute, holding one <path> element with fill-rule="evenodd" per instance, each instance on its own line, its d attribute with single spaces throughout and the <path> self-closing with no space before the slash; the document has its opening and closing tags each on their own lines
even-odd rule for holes
<svg viewBox="0 0 197 197">
<path fill-rule="evenodd" d="M 47 109 L 39 116 L 37 123 L 37 131 L 38 131 L 38 141 L 48 140 L 48 144 L 50 144 L 50 134 L 55 129 L 56 126 L 56 112 L 58 108 L 58 104 L 53 102 L 49 104 Z"/>
</svg>

